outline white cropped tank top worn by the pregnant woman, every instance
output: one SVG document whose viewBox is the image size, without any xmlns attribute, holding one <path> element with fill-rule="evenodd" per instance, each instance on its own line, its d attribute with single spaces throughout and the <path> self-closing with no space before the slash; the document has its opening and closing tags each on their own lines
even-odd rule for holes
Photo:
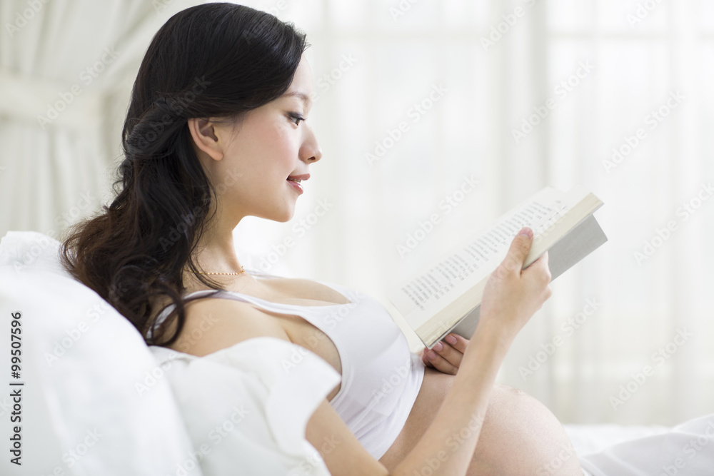
<svg viewBox="0 0 714 476">
<path fill-rule="evenodd" d="M 278 278 L 253 270 L 250 273 Z M 325 333 L 337 348 L 342 365 L 341 388 L 330 404 L 378 460 L 396 440 L 411 412 L 424 378 L 424 364 L 409 350 L 405 335 L 381 303 L 342 285 L 317 282 L 337 290 L 351 303 L 272 303 L 234 291 L 222 291 L 213 297 L 241 300 L 273 313 L 298 315 Z M 213 290 L 196 291 L 186 297 L 201 293 L 210 294 Z M 173 305 L 165 308 L 154 326 L 172 308 Z"/>
</svg>

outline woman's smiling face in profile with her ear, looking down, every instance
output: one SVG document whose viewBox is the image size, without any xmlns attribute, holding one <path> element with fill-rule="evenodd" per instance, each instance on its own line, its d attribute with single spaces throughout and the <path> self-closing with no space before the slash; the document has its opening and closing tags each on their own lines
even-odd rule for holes
<svg viewBox="0 0 714 476">
<path fill-rule="evenodd" d="M 309 183 L 303 178 L 296 187 L 288 176 L 306 175 L 309 164 L 322 157 L 306 120 L 313 91 L 312 73 L 303 55 L 283 96 L 248 111 L 234 129 L 208 123 L 213 125 L 213 137 L 217 138 L 208 145 L 220 153 L 211 154 L 199 145 L 201 151 L 208 153 L 198 155 L 216 188 L 223 219 L 237 224 L 248 215 L 281 222 L 293 217 L 296 200 L 302 193 L 299 188 Z M 210 139 L 201 136 L 200 141 L 206 145 Z"/>
</svg>

